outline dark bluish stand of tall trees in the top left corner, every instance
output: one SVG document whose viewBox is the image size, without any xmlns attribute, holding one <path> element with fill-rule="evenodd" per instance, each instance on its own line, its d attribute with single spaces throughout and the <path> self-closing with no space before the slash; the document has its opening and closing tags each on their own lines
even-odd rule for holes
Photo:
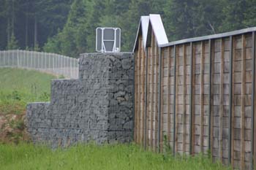
<svg viewBox="0 0 256 170">
<path fill-rule="evenodd" d="M 21 48 L 42 45 L 67 21 L 72 0 L 0 0 L 0 49 L 12 33 Z"/>
</svg>

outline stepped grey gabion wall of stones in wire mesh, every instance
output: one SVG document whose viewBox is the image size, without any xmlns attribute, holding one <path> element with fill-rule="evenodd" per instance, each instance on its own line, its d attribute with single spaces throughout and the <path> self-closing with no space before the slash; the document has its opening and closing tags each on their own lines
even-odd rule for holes
<svg viewBox="0 0 256 170">
<path fill-rule="evenodd" d="M 78 80 L 53 80 L 50 103 L 27 106 L 33 142 L 130 142 L 133 136 L 132 53 L 80 55 Z"/>
</svg>

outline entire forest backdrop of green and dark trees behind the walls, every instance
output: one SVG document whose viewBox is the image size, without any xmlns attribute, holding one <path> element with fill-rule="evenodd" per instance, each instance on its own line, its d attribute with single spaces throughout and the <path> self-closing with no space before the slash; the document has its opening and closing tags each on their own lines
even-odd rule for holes
<svg viewBox="0 0 256 170">
<path fill-rule="evenodd" d="M 141 15 L 160 14 L 169 41 L 256 26 L 256 0 L 0 0 L 0 50 L 78 58 L 95 51 L 95 29 L 121 28 L 131 51 Z"/>
</svg>

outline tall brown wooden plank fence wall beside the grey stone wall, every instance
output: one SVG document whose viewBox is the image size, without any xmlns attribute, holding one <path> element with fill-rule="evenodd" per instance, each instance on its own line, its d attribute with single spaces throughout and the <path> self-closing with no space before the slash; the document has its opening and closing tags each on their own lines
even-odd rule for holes
<svg viewBox="0 0 256 170">
<path fill-rule="evenodd" d="M 135 142 L 252 169 L 255 33 L 135 51 Z M 253 98 L 252 98 L 253 97 Z"/>
</svg>

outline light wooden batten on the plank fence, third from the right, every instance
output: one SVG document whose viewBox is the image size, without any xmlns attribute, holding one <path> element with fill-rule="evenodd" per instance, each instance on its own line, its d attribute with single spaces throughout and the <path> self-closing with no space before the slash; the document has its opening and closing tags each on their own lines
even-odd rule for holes
<svg viewBox="0 0 256 170">
<path fill-rule="evenodd" d="M 204 95 L 204 53 L 205 53 L 205 45 L 204 42 L 201 42 L 201 66 L 200 66 L 200 152 L 203 153 L 203 95 Z"/>
</svg>

